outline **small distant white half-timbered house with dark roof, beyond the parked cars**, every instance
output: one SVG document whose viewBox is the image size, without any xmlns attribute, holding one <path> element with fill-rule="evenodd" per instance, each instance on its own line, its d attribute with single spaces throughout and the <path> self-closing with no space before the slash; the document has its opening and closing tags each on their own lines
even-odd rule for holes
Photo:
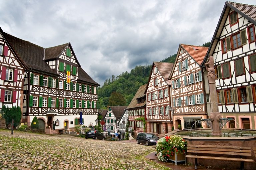
<svg viewBox="0 0 256 170">
<path fill-rule="evenodd" d="M 119 120 L 121 119 L 124 112 L 126 112 L 126 107 L 127 106 L 108 106 L 104 120 L 105 127 L 107 131 L 110 132 L 112 137 L 115 137 L 115 133 L 118 133 L 118 138 L 121 137 L 119 132 Z"/>
</svg>

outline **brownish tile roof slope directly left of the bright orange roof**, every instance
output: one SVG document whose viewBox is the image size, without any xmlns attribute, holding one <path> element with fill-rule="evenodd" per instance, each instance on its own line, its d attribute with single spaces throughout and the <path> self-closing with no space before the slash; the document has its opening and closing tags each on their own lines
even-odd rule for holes
<svg viewBox="0 0 256 170">
<path fill-rule="evenodd" d="M 164 81 L 168 85 L 171 85 L 171 80 L 169 80 L 168 78 L 169 78 L 169 76 L 172 72 L 173 63 L 170 63 L 170 62 L 154 62 L 154 64 L 156 65 L 160 74 L 163 76 Z"/>
</svg>

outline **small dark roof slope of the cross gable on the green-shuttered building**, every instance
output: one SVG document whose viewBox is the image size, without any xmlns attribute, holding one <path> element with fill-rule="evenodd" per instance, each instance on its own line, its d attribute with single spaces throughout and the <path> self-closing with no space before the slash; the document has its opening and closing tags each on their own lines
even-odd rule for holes
<svg viewBox="0 0 256 170">
<path fill-rule="evenodd" d="M 45 48 L 44 60 L 56 59 L 68 46 L 69 43 Z"/>
</svg>

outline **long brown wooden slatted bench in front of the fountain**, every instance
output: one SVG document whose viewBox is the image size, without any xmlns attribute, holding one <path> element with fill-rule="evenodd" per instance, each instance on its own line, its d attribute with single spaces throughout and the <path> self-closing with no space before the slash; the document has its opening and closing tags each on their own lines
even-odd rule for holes
<svg viewBox="0 0 256 170">
<path fill-rule="evenodd" d="M 254 162 L 251 147 L 239 146 L 188 144 L 186 158 L 195 158 L 195 169 L 197 169 L 197 158 L 240 161 L 240 169 L 244 168 L 244 162 Z"/>
</svg>

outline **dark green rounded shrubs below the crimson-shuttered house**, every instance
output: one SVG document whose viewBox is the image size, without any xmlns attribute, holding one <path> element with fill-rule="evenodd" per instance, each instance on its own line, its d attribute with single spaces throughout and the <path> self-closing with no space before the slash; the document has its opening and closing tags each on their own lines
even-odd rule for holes
<svg viewBox="0 0 256 170">
<path fill-rule="evenodd" d="M 6 123 L 11 123 L 12 119 L 14 124 L 19 124 L 21 120 L 21 109 L 20 107 L 13 106 L 11 108 L 4 105 L 1 110 L 2 117 L 5 119 Z"/>
</svg>

